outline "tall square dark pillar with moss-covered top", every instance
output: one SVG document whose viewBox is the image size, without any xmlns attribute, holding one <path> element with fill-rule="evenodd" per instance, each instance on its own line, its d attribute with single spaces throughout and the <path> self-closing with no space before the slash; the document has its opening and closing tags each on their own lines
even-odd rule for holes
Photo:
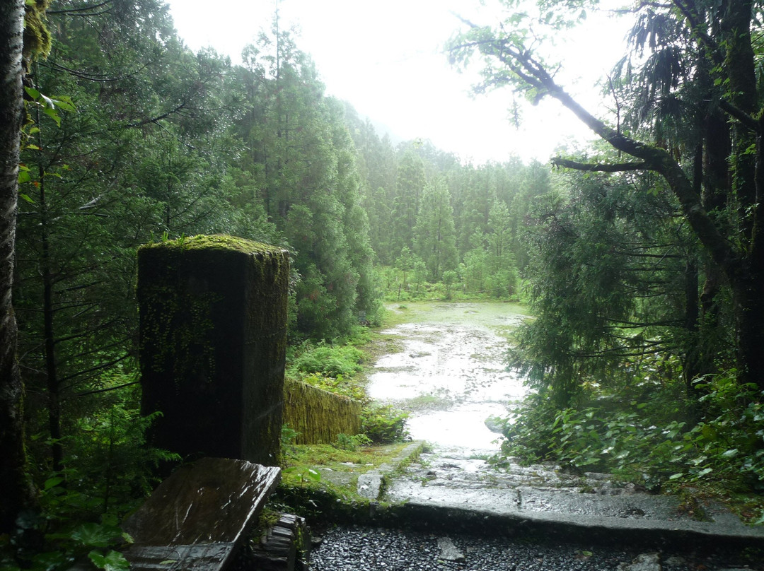
<svg viewBox="0 0 764 571">
<path fill-rule="evenodd" d="M 138 250 L 141 408 L 162 412 L 151 444 L 277 463 L 289 273 L 286 250 L 230 236 Z"/>
</svg>

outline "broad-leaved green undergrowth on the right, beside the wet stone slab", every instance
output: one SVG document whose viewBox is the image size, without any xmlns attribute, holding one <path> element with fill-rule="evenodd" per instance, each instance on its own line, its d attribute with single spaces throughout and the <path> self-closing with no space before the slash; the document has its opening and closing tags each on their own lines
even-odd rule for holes
<svg viewBox="0 0 764 571">
<path fill-rule="evenodd" d="M 617 387 L 589 382 L 565 408 L 533 392 L 504 419 L 502 453 L 523 463 L 554 460 L 574 471 L 601 471 L 646 489 L 738 502 L 764 524 L 764 393 L 740 385 L 735 371 L 684 387 L 649 371 Z M 753 496 L 751 495 L 753 494 Z"/>
</svg>

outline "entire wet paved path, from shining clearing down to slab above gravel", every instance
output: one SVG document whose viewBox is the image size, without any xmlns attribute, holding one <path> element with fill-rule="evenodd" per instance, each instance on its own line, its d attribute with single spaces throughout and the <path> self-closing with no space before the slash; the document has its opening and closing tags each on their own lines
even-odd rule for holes
<svg viewBox="0 0 764 571">
<path fill-rule="evenodd" d="M 403 349 L 380 358 L 369 394 L 410 410 L 412 436 L 431 450 L 391 473 L 380 499 L 400 504 L 405 518 L 431 524 L 490 521 L 606 542 L 637 535 L 645 543 L 714 537 L 764 548 L 764 526 L 744 525 L 717 502 L 683 505 L 607 474 L 578 476 L 512 459 L 502 467 L 487 463 L 500 437 L 485 419 L 506 416 L 526 390 L 522 379 L 504 370 L 501 335 L 521 318 L 510 305 L 442 304 L 387 331 Z"/>
</svg>

